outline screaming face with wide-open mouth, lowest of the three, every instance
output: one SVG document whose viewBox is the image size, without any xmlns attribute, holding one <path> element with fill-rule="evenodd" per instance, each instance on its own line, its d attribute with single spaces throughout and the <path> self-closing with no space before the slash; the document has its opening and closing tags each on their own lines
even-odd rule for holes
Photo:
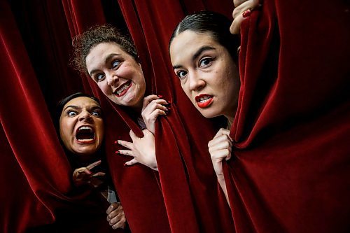
<svg viewBox="0 0 350 233">
<path fill-rule="evenodd" d="M 104 139 L 104 120 L 99 104 L 89 97 L 76 97 L 63 107 L 59 134 L 64 146 L 78 155 L 92 155 Z"/>
</svg>

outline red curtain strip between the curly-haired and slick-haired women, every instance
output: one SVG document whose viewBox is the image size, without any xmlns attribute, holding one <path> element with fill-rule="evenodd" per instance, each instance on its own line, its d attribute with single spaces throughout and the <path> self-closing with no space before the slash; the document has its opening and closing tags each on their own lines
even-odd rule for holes
<svg viewBox="0 0 350 233">
<path fill-rule="evenodd" d="M 147 85 L 153 85 L 153 94 L 162 94 L 174 103 L 171 112 L 160 118 L 155 132 L 160 183 L 171 230 L 233 232 L 230 211 L 218 188 L 207 150 L 207 142 L 215 134 L 214 124 L 202 118 L 183 93 L 168 55 L 169 38 L 184 17 L 184 8 L 202 10 L 203 4 L 119 2 L 132 38 L 141 51 Z"/>
</svg>

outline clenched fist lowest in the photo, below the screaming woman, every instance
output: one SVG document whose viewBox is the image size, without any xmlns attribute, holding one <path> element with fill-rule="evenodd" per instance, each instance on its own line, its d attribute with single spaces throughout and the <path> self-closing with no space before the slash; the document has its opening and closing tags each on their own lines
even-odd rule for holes
<svg viewBox="0 0 350 233">
<path fill-rule="evenodd" d="M 109 209 L 106 211 L 107 221 L 113 229 L 122 228 L 125 229 L 127 219 L 125 218 L 125 213 L 123 206 L 120 202 L 114 202 L 109 206 Z"/>
</svg>

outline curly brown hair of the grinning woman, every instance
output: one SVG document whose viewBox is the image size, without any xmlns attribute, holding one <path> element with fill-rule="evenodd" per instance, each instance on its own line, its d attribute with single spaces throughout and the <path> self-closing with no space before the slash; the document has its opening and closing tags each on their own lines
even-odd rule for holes
<svg viewBox="0 0 350 233">
<path fill-rule="evenodd" d="M 85 72 L 88 75 L 86 57 L 92 48 L 100 43 L 116 43 L 123 51 L 134 57 L 136 62 L 140 62 L 132 39 L 120 32 L 116 27 L 106 24 L 90 27 L 73 38 L 73 56 L 71 57 L 70 65 L 74 69 Z"/>
</svg>

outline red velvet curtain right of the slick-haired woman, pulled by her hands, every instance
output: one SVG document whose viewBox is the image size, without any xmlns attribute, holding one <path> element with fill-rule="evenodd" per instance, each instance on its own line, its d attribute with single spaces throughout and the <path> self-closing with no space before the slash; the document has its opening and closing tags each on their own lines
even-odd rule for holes
<svg viewBox="0 0 350 233">
<path fill-rule="evenodd" d="M 264 1 L 243 22 L 224 167 L 237 232 L 349 232 L 349 9 Z"/>
</svg>

